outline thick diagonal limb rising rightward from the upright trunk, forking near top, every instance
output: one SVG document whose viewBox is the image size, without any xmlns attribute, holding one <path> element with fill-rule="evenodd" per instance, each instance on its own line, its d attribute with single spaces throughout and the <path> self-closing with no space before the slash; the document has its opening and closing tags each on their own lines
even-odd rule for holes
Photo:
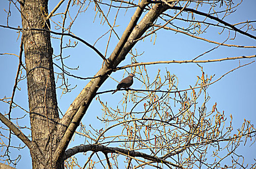
<svg viewBox="0 0 256 169">
<path fill-rule="evenodd" d="M 81 93 L 76 97 L 74 102 L 71 104 L 64 117 L 61 119 L 60 123 L 63 124 L 61 127 L 69 126 L 65 129 L 65 134 L 61 139 L 55 155 L 53 157 L 54 160 L 59 158 L 63 153 L 65 148 L 67 147 L 69 141 L 71 140 L 73 134 L 75 133 L 76 127 L 78 127 L 82 117 L 86 113 L 91 100 L 96 96 L 96 92 L 98 88 L 105 82 L 107 79 L 107 74 L 110 74 L 112 71 L 109 69 L 109 66 L 116 67 L 128 54 L 128 52 L 132 49 L 132 47 L 136 43 L 131 43 L 127 41 L 128 37 L 133 39 L 137 39 L 142 36 L 142 34 L 150 27 L 149 23 L 152 23 L 162 12 L 164 12 L 167 8 L 161 4 L 155 5 L 154 8 L 149 11 L 148 14 L 141 20 L 141 22 L 136 26 L 136 22 L 139 16 L 143 12 L 143 8 L 147 5 L 146 0 L 142 0 L 139 7 L 137 8 L 135 14 L 133 15 L 128 27 L 126 28 L 124 34 L 122 35 L 120 42 L 117 44 L 111 56 L 105 62 L 105 65 L 101 70 L 96 73 L 95 76 L 101 75 L 101 78 L 92 79 L 81 91 Z M 149 17 L 150 16 L 150 17 Z M 124 43 L 124 44 L 123 44 Z M 59 131 L 63 131 L 63 129 L 58 129 Z"/>
</svg>

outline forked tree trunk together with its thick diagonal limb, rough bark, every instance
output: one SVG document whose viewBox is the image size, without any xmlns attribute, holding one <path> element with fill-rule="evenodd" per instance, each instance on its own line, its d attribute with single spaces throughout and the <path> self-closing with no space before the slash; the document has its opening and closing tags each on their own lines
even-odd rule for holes
<svg viewBox="0 0 256 169">
<path fill-rule="evenodd" d="M 64 151 L 91 100 L 95 97 L 99 86 L 104 83 L 107 74 L 111 73 L 109 68 L 115 68 L 136 44 L 136 42 L 127 40 L 129 38 L 130 40 L 140 38 L 167 7 L 162 4 L 155 5 L 140 24 L 136 26 L 143 8 L 148 4 L 147 0 L 141 2 L 140 7 L 136 9 L 135 16 L 132 17 L 127 30 L 122 36 L 124 38 L 108 58 L 109 63 L 104 65 L 95 75 L 99 75 L 98 78 L 92 79 L 86 85 L 60 121 L 55 91 L 50 33 L 31 30 L 31 28 L 50 28 L 49 22 L 45 20 L 48 15 L 48 0 L 23 1 L 24 4 L 21 4 L 22 26 L 24 28 L 22 40 L 28 81 L 32 141 L 36 144 L 36 146 L 30 148 L 32 166 L 33 169 L 60 169 L 64 167 Z M 69 127 L 68 130 L 67 127 Z"/>
</svg>

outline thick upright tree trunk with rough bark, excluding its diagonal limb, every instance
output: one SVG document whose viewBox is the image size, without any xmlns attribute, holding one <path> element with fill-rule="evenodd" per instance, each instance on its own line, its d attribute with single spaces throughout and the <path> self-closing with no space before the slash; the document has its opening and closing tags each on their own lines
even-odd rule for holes
<svg viewBox="0 0 256 169">
<path fill-rule="evenodd" d="M 53 141 L 53 128 L 59 121 L 55 80 L 52 62 L 50 33 L 29 30 L 49 29 L 45 21 L 48 0 L 24 0 L 21 2 L 23 30 L 22 41 L 27 71 L 32 141 L 38 146 L 30 150 L 33 169 L 51 169 L 52 155 L 57 141 Z"/>
</svg>

